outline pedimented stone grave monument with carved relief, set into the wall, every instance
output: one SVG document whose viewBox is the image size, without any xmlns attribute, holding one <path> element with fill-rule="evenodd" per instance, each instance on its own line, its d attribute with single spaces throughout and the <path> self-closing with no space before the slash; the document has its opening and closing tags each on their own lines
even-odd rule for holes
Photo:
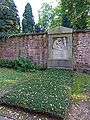
<svg viewBox="0 0 90 120">
<path fill-rule="evenodd" d="M 48 68 L 72 68 L 72 29 L 58 26 L 48 31 Z"/>
</svg>

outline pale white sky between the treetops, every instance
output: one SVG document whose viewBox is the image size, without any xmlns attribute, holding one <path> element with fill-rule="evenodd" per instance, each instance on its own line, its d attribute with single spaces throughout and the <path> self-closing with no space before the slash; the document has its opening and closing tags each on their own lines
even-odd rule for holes
<svg viewBox="0 0 90 120">
<path fill-rule="evenodd" d="M 53 6 L 56 5 L 56 0 L 14 0 L 14 2 L 19 11 L 20 20 L 22 20 L 22 15 L 25 9 L 25 5 L 27 3 L 30 3 L 32 7 L 32 12 L 34 15 L 34 20 L 36 23 L 38 22 L 38 10 L 40 9 L 41 4 L 43 2 L 46 2 L 46 3 L 52 2 Z"/>
</svg>

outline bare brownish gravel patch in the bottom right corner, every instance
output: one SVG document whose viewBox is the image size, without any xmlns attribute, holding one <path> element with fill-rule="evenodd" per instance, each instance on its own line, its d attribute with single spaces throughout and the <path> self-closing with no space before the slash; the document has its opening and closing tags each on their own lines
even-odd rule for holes
<svg viewBox="0 0 90 120">
<path fill-rule="evenodd" d="M 90 101 L 71 104 L 67 120 L 90 120 Z"/>
</svg>

